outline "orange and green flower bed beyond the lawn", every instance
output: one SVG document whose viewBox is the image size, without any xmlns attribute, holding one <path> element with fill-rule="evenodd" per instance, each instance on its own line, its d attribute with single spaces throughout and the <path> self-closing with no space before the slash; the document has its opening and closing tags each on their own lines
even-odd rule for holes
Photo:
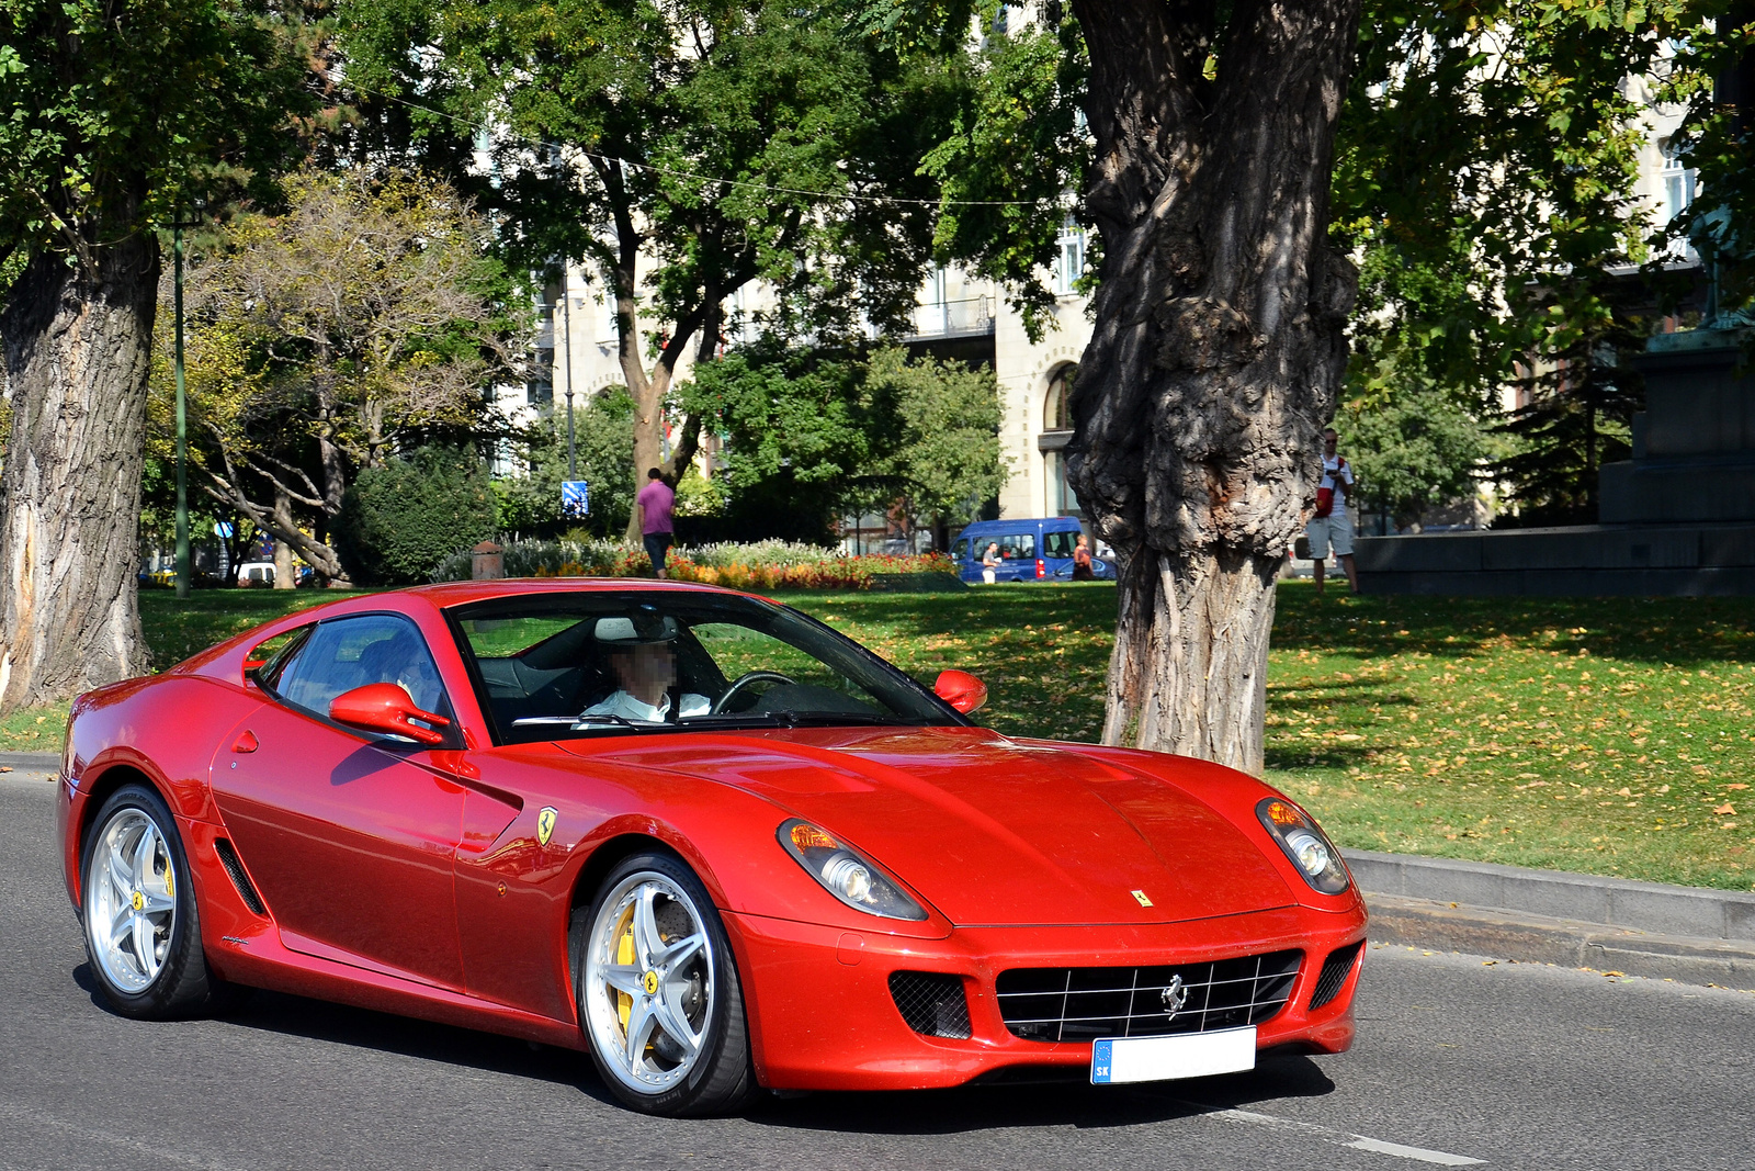
<svg viewBox="0 0 1755 1171">
<path fill-rule="evenodd" d="M 646 551 L 627 541 L 505 541 L 507 578 L 644 578 L 651 574 Z M 867 553 L 849 557 L 814 544 L 760 541 L 755 544 L 679 546 L 670 551 L 667 571 L 676 581 L 700 581 L 734 590 L 870 590 L 899 576 L 939 574 L 956 578 L 956 565 L 942 553 L 893 557 Z M 463 581 L 470 576 L 469 551 L 453 553 L 433 571 L 433 581 Z M 892 586 L 893 588 L 893 586 Z"/>
</svg>

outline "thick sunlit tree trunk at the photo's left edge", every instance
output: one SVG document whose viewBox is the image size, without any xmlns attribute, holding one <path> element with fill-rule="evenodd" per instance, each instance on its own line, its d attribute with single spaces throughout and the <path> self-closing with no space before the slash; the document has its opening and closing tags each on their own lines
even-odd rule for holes
<svg viewBox="0 0 1755 1171">
<path fill-rule="evenodd" d="M 158 239 L 39 253 L 0 335 L 12 441 L 0 518 L 0 711 L 147 671 L 135 571 Z"/>
</svg>

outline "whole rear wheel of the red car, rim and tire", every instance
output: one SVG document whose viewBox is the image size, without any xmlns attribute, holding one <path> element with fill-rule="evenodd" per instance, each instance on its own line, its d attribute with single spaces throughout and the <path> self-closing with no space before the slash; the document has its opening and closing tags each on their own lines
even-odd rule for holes
<svg viewBox="0 0 1755 1171">
<path fill-rule="evenodd" d="M 228 994 L 207 971 L 188 857 L 176 818 L 146 785 L 111 794 L 84 843 L 86 957 L 123 1017 L 165 1020 Z"/>
</svg>

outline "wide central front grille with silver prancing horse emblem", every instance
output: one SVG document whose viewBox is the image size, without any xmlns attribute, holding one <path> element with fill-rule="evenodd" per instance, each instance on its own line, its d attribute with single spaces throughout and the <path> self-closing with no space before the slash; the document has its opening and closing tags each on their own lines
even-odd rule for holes
<svg viewBox="0 0 1755 1171">
<path fill-rule="evenodd" d="M 999 1011 L 1027 1041 L 1241 1029 L 1279 1011 L 1302 959 L 1290 950 L 1178 967 L 1014 967 L 999 976 Z"/>
</svg>

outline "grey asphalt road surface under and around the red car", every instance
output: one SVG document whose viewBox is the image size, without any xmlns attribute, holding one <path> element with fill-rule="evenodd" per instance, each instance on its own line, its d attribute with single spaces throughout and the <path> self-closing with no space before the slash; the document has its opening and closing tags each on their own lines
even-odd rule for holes
<svg viewBox="0 0 1755 1171">
<path fill-rule="evenodd" d="M 114 1017 L 54 857 L 53 787 L 0 776 L 0 1167 L 1755 1166 L 1744 992 L 1374 946 L 1341 1057 L 663 1122 L 583 1055 L 314 1001 Z"/>
</svg>

